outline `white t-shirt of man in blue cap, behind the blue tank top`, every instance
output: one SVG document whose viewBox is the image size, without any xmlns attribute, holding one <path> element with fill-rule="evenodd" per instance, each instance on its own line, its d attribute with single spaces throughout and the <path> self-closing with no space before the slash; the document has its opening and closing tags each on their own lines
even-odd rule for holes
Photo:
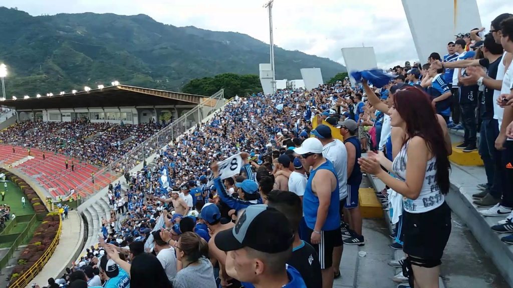
<svg viewBox="0 0 513 288">
<path fill-rule="evenodd" d="M 339 139 L 327 143 L 322 148 L 322 155 L 333 163 L 339 180 L 339 199 L 347 197 L 347 149 Z"/>
</svg>

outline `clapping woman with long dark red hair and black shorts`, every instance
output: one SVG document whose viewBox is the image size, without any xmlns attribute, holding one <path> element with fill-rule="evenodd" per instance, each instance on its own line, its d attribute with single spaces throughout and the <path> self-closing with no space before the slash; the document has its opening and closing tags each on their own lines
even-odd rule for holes
<svg viewBox="0 0 513 288">
<path fill-rule="evenodd" d="M 388 111 L 391 126 L 404 133 L 402 146 L 388 160 L 382 152 L 360 158 L 363 171 L 376 175 L 403 196 L 403 273 L 412 287 L 438 287 L 442 254 L 451 231 L 448 149 L 429 96 L 408 86 L 398 90 Z M 386 173 L 391 171 L 396 178 Z"/>
</svg>

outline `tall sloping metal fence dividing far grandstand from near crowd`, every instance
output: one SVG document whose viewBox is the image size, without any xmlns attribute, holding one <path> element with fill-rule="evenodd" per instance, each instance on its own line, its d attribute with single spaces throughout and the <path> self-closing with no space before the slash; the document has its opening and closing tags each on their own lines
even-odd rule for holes
<svg viewBox="0 0 513 288">
<path fill-rule="evenodd" d="M 223 105 L 224 89 L 221 89 L 209 98 L 204 98 L 204 100 L 198 106 L 194 107 L 190 111 L 187 111 L 181 117 L 171 122 L 171 124 L 130 150 L 130 152 L 121 156 L 119 159 L 110 163 L 108 166 L 100 169 L 94 174 L 94 183 L 91 177 L 91 179 L 76 187 L 76 193 L 80 194 L 82 197 L 81 202 L 87 200 L 89 196 L 96 193 L 97 191 L 107 187 L 109 183 L 112 183 L 113 180 L 119 178 L 126 171 L 130 171 L 137 164 L 143 162 L 151 154 L 167 146 L 171 140 L 180 136 L 188 129 L 197 125 L 201 125 L 203 119 L 214 113 Z M 98 178 L 102 178 L 103 180 L 98 181 Z"/>
</svg>

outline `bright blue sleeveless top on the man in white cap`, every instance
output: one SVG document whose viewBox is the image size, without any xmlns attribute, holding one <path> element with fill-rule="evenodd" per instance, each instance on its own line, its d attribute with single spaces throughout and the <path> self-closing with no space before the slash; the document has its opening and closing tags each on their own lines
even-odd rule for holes
<svg viewBox="0 0 513 288">
<path fill-rule="evenodd" d="M 328 208 L 328 216 L 322 227 L 323 231 L 335 230 L 340 228 L 340 204 L 339 204 L 339 180 L 337 172 L 333 168 L 333 164 L 326 159 L 317 169 L 312 170 L 308 181 L 306 182 L 305 195 L 303 195 L 303 212 L 305 214 L 306 225 L 310 229 L 315 228 L 315 221 L 317 221 L 317 209 L 319 208 L 319 198 L 313 194 L 312 180 L 317 171 L 325 169 L 331 171 L 337 180 L 337 187 L 331 191 L 330 203 Z"/>
</svg>

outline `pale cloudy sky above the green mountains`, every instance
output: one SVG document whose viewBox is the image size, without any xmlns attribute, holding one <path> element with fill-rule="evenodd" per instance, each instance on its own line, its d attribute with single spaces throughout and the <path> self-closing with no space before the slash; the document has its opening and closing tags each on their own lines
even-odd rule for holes
<svg viewBox="0 0 513 288">
<path fill-rule="evenodd" d="M 263 7 L 266 1 L 2 0 L 0 5 L 17 7 L 33 16 L 83 12 L 147 14 L 164 24 L 240 32 L 269 43 L 268 13 Z M 481 23 L 487 30 L 497 15 L 513 12 L 510 1 L 477 0 Z M 374 47 L 380 67 L 418 60 L 401 0 L 275 0 L 272 11 L 274 44 L 284 49 L 344 64 L 341 48 L 364 45 Z"/>
</svg>

